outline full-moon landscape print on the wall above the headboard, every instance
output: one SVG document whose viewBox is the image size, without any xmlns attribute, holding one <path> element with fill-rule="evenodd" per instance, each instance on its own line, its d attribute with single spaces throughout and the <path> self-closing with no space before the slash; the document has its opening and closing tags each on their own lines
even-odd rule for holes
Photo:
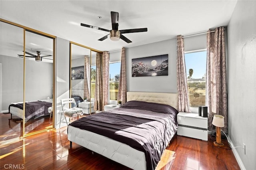
<svg viewBox="0 0 256 170">
<path fill-rule="evenodd" d="M 168 54 L 132 59 L 132 77 L 168 75 Z"/>
</svg>

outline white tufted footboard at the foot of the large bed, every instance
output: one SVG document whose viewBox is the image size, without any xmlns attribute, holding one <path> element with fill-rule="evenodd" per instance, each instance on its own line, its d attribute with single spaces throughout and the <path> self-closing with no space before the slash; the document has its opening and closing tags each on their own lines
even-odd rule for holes
<svg viewBox="0 0 256 170">
<path fill-rule="evenodd" d="M 68 140 L 134 170 L 146 170 L 144 152 L 111 138 L 68 126 Z"/>
</svg>

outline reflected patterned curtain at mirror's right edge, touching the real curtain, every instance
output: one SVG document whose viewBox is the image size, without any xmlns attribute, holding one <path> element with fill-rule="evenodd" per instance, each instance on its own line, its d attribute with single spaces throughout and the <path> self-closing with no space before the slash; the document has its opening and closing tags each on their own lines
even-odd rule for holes
<svg viewBox="0 0 256 170">
<path fill-rule="evenodd" d="M 102 54 L 96 53 L 96 81 L 94 110 L 102 111 Z"/>
</svg>

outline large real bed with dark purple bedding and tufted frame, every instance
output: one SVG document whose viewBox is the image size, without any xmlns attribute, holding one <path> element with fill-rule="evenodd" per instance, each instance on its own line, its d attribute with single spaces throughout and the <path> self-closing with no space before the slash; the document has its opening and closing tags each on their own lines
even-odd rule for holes
<svg viewBox="0 0 256 170">
<path fill-rule="evenodd" d="M 75 142 L 134 170 L 153 170 L 177 131 L 177 107 L 176 93 L 127 92 L 122 107 L 70 123 L 70 147 Z"/>
</svg>

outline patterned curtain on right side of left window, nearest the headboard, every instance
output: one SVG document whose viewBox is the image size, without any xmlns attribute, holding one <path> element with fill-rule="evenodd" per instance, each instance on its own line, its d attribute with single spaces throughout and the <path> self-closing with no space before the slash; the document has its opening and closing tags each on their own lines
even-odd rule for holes
<svg viewBox="0 0 256 170">
<path fill-rule="evenodd" d="M 122 101 L 122 104 L 126 103 L 126 100 L 127 100 L 126 93 L 127 93 L 127 82 L 126 82 L 125 49 L 124 47 L 122 47 L 121 69 L 120 69 L 118 95 L 117 95 L 117 100 Z"/>
</svg>

